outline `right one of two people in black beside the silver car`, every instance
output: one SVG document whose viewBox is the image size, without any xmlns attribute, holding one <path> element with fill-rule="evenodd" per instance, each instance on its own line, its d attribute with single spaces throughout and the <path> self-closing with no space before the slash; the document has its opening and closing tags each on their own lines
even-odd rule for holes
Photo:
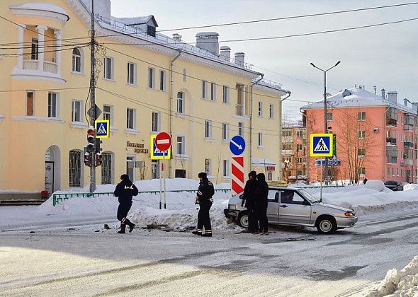
<svg viewBox="0 0 418 297">
<path fill-rule="evenodd" d="M 267 185 L 266 182 L 266 175 L 264 175 L 264 173 L 259 173 L 256 182 L 255 211 L 256 218 L 260 222 L 260 231 L 263 234 L 269 232 L 269 220 L 267 219 L 268 197 L 269 185 Z"/>
</svg>

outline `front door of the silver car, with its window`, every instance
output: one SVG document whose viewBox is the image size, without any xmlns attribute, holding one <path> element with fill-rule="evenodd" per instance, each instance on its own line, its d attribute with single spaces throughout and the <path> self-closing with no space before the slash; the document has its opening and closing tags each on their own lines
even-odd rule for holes
<svg viewBox="0 0 418 297">
<path fill-rule="evenodd" d="M 311 206 L 307 200 L 295 190 L 280 190 L 278 223 L 309 224 Z"/>
</svg>

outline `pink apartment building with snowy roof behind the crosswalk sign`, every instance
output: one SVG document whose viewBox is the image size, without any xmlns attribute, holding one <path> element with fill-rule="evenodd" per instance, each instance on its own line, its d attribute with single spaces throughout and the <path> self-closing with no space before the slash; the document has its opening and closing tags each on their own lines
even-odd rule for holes
<svg viewBox="0 0 418 297">
<path fill-rule="evenodd" d="M 417 182 L 417 105 L 408 103 L 398 104 L 397 92 L 385 94 L 384 89 L 381 96 L 352 88 L 328 97 L 327 127 L 336 134 L 335 157 L 341 160 L 340 166 L 329 166 L 329 178 Z M 300 110 L 307 139 L 324 133 L 323 100 Z M 310 181 L 320 180 L 315 159 L 308 162 Z"/>
</svg>

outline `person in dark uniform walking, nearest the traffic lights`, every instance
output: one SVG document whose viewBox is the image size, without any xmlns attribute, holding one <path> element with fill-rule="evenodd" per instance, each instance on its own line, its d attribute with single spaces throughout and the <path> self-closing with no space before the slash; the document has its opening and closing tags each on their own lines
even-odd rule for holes
<svg viewBox="0 0 418 297">
<path fill-rule="evenodd" d="M 120 180 L 121 182 L 116 185 L 115 192 L 113 192 L 115 197 L 118 197 L 119 201 L 118 220 L 120 221 L 120 231 L 118 231 L 118 233 L 126 233 L 126 225 L 129 226 L 129 232 L 132 232 L 135 227 L 135 223 L 126 219 L 126 216 L 128 216 L 130 206 L 132 206 L 132 196 L 136 196 L 138 194 L 138 189 L 129 180 L 129 175 L 120 175 Z"/>
</svg>

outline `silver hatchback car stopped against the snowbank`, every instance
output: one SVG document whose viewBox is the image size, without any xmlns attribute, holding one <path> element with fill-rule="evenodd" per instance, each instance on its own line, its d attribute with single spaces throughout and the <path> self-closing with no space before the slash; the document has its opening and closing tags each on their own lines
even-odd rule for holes
<svg viewBox="0 0 418 297">
<path fill-rule="evenodd" d="M 242 203 L 242 194 L 230 199 L 224 210 L 227 218 L 248 227 L 248 213 Z M 328 234 L 337 229 L 354 226 L 357 216 L 352 209 L 322 203 L 304 189 L 295 187 L 269 187 L 267 219 L 271 225 L 316 227 L 318 232 Z"/>
</svg>

